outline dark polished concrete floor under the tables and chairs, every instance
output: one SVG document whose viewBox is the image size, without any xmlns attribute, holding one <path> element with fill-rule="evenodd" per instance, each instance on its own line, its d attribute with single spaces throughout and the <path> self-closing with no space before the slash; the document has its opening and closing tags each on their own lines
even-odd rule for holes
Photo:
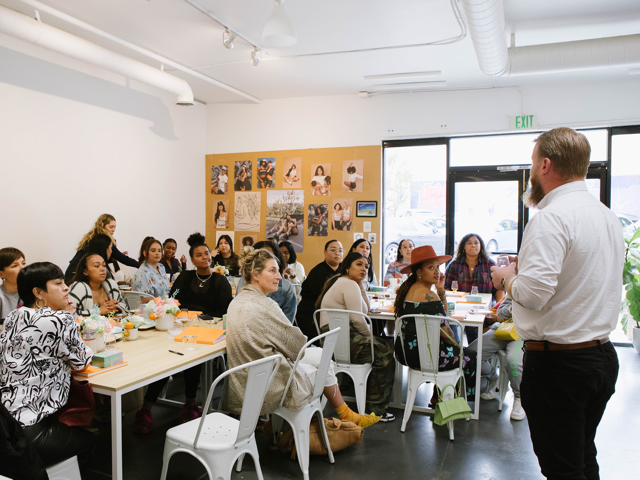
<svg viewBox="0 0 640 480">
<path fill-rule="evenodd" d="M 638 478 L 637 458 L 640 456 L 640 355 L 632 348 L 616 348 L 620 358 L 620 376 L 616 393 L 604 414 L 596 445 L 603 480 Z M 172 382 L 170 394 L 176 398 L 182 390 L 182 380 Z M 431 397 L 431 385 L 424 385 L 416 404 L 426 405 Z M 345 392 L 347 393 L 347 392 Z M 406 394 L 406 392 L 405 392 Z M 550 395 L 553 392 L 549 392 Z M 335 453 L 335 463 L 324 456 L 312 456 L 309 474 L 312 479 L 419 479 L 419 480 L 513 480 L 542 479 L 538 460 L 533 453 L 527 420 L 509 420 L 511 392 L 504 410 L 498 412 L 498 401 L 482 401 L 480 420 L 455 422 L 456 440 L 449 441 L 447 428 L 440 427 L 424 413 L 414 412 L 406 432 L 400 432 L 403 410 L 392 410 L 396 421 L 378 423 L 364 430 L 363 442 Z M 162 468 L 164 433 L 177 424 L 178 410 L 158 405 L 154 408 L 154 428 L 148 435 L 132 433 L 134 412 L 124 417 L 125 479 L 157 480 Z M 337 416 L 328 406 L 326 417 Z M 88 479 L 104 480 L 111 473 L 111 438 L 109 424 L 97 424 L 104 455 L 97 458 Z M 256 433 L 260 463 L 265 479 L 282 477 L 302 479 L 297 460 L 269 449 L 269 440 Z M 206 479 L 205 469 L 188 454 L 175 454 L 169 467 L 170 480 Z M 243 471 L 232 479 L 256 479 L 250 457 L 244 460 Z"/>
</svg>

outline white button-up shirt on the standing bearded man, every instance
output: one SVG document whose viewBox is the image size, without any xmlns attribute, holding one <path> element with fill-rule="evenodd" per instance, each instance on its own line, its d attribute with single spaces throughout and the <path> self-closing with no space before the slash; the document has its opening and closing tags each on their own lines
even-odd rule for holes
<svg viewBox="0 0 640 480">
<path fill-rule="evenodd" d="M 620 312 L 625 246 L 618 217 L 584 181 L 550 191 L 527 223 L 511 286 L 522 340 L 604 339 Z"/>
</svg>

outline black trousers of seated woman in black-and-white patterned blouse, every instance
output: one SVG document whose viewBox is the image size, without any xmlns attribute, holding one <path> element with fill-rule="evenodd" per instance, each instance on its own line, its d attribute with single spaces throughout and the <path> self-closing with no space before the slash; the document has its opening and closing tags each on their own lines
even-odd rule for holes
<svg viewBox="0 0 640 480">
<path fill-rule="evenodd" d="M 80 470 L 92 460 L 98 442 L 84 428 L 70 428 L 51 417 L 24 428 L 24 435 L 47 467 L 77 455 Z"/>
</svg>

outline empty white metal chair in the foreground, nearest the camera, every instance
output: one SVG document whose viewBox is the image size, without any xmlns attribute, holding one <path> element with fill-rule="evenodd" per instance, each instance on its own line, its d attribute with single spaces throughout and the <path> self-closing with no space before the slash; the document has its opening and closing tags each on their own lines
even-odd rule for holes
<svg viewBox="0 0 640 480">
<path fill-rule="evenodd" d="M 253 431 L 258 423 L 264 396 L 269 390 L 269 385 L 271 385 L 282 360 L 284 360 L 282 355 L 271 355 L 239 365 L 218 376 L 209 389 L 202 417 L 170 428 L 166 432 L 161 480 L 166 479 L 169 460 L 176 452 L 186 452 L 200 460 L 200 463 L 207 469 L 209 480 L 230 479 L 231 470 L 236 460 L 236 470 L 239 472 L 242 468 L 244 454 L 248 453 L 253 457 L 259 480 L 262 480 L 258 448 Z M 244 389 L 244 403 L 240 420 L 219 412 L 207 415 L 218 382 L 228 375 L 246 368 L 249 369 L 249 372 Z"/>
</svg>

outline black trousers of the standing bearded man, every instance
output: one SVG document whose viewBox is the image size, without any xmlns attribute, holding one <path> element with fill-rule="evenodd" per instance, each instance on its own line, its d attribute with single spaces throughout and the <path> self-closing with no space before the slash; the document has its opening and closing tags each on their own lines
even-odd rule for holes
<svg viewBox="0 0 640 480">
<path fill-rule="evenodd" d="M 545 477 L 600 478 L 594 438 L 617 378 L 618 355 L 611 342 L 525 352 L 520 396 Z"/>
</svg>

